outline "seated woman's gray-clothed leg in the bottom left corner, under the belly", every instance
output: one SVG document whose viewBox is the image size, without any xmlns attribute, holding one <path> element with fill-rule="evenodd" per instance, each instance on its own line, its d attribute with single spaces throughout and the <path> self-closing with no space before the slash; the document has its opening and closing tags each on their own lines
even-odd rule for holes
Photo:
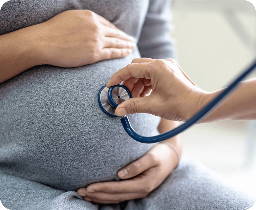
<svg viewBox="0 0 256 210">
<path fill-rule="evenodd" d="M 11 210 L 97 210 L 74 191 L 64 192 L 44 184 L 0 172 L 0 200 Z"/>
</svg>

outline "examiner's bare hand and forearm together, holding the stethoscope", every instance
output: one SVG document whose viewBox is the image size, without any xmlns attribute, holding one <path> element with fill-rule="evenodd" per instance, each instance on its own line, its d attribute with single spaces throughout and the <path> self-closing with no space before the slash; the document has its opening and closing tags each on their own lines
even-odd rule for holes
<svg viewBox="0 0 256 210">
<path fill-rule="evenodd" d="M 136 95 L 116 108 L 116 115 L 149 113 L 168 120 L 186 121 L 223 90 L 208 93 L 200 89 L 173 59 L 134 59 L 117 71 L 107 87 L 123 84 Z M 221 119 L 256 119 L 256 79 L 242 82 L 239 89 L 202 122 Z M 151 94 L 146 97 L 146 93 Z M 160 108 L 161 107 L 161 108 Z"/>
</svg>

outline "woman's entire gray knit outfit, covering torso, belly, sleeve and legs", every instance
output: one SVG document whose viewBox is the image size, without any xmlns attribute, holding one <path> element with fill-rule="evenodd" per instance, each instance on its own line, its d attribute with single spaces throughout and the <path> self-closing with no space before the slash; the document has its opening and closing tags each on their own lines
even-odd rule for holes
<svg viewBox="0 0 256 210">
<path fill-rule="evenodd" d="M 0 34 L 88 9 L 134 36 L 125 58 L 77 68 L 35 66 L 0 84 L 0 200 L 11 209 L 246 209 L 249 198 L 188 160 L 147 198 L 97 205 L 75 192 L 117 171 L 151 147 L 131 139 L 118 117 L 98 105 L 99 89 L 136 57 L 175 58 L 166 0 L 10 0 L 0 10 Z M 129 117 L 141 135 L 157 134 L 159 118 Z"/>
</svg>

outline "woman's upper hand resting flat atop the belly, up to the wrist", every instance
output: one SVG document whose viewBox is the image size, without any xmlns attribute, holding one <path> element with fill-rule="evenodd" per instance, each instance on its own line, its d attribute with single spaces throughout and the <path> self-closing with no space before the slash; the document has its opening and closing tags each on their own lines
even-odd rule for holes
<svg viewBox="0 0 256 210">
<path fill-rule="evenodd" d="M 61 12 L 38 24 L 39 46 L 45 64 L 77 67 L 125 57 L 136 44 L 133 37 L 90 10 Z"/>
</svg>

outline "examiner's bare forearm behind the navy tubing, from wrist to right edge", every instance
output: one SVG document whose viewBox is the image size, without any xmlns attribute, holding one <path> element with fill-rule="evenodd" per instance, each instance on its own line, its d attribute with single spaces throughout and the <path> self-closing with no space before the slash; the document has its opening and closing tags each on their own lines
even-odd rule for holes
<svg viewBox="0 0 256 210">
<path fill-rule="evenodd" d="M 213 92 L 206 100 L 210 102 L 222 90 Z M 207 104 L 205 103 L 205 105 Z M 256 119 L 256 79 L 242 82 L 238 90 L 230 95 L 212 114 L 207 116 L 202 122 L 212 122 L 222 119 Z"/>
</svg>

